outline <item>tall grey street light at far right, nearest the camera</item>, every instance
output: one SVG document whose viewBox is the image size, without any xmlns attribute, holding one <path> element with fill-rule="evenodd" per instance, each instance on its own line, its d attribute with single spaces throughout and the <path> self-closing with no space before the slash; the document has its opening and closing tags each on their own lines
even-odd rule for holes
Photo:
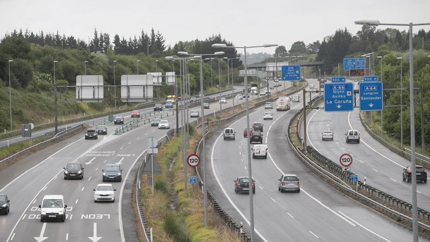
<svg viewBox="0 0 430 242">
<path fill-rule="evenodd" d="M 412 166 L 412 237 L 413 242 L 418 242 L 418 208 L 416 195 L 416 161 L 415 161 L 415 108 L 413 96 L 413 48 L 412 48 L 412 27 L 414 25 L 430 25 L 427 23 L 381 23 L 379 20 L 358 20 L 355 24 L 368 25 L 399 25 L 409 26 L 409 105 L 410 105 L 410 161 Z M 401 88 L 402 90 L 403 88 Z"/>
</svg>

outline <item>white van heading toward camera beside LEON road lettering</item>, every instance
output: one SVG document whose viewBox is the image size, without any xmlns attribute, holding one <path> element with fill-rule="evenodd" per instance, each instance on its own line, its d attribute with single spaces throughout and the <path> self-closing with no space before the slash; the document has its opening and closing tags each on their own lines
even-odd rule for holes
<svg viewBox="0 0 430 242">
<path fill-rule="evenodd" d="M 63 195 L 45 195 L 42 199 L 41 209 L 41 222 L 45 220 L 65 220 L 65 209 Z"/>
</svg>

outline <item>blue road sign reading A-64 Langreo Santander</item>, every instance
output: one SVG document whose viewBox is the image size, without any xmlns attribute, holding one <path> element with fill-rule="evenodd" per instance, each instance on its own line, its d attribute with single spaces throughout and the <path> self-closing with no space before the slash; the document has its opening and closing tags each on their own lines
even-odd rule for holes
<svg viewBox="0 0 430 242">
<path fill-rule="evenodd" d="M 360 90 L 360 111 L 377 111 L 383 109 L 382 82 L 362 82 Z"/>
</svg>

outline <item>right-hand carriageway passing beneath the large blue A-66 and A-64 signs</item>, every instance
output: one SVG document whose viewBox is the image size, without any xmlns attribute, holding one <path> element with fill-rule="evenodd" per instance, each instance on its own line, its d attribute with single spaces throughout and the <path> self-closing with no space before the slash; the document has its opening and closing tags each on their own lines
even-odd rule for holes
<svg viewBox="0 0 430 242">
<path fill-rule="evenodd" d="M 323 104 L 321 104 L 321 107 Z M 343 153 L 352 154 L 351 171 L 366 183 L 396 198 L 412 203 L 412 184 L 402 181 L 402 169 L 410 165 L 410 160 L 391 152 L 374 139 L 360 121 L 360 112 L 324 112 L 314 110 L 308 117 L 308 145 L 334 162 L 339 162 Z M 349 129 L 360 132 L 360 143 L 346 143 L 345 133 Z M 334 141 L 322 141 L 321 132 L 334 132 Z M 302 134 L 302 132 L 301 132 Z M 429 179 L 429 178 L 428 178 Z M 418 207 L 430 211 L 430 186 L 417 183 Z"/>
</svg>

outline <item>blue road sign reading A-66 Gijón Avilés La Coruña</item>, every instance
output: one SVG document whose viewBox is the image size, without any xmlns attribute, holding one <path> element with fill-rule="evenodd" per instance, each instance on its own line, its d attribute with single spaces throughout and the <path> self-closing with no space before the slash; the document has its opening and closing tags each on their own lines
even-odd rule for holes
<svg viewBox="0 0 430 242">
<path fill-rule="evenodd" d="M 347 112 L 354 110 L 352 83 L 324 83 L 324 111 Z"/>
</svg>

